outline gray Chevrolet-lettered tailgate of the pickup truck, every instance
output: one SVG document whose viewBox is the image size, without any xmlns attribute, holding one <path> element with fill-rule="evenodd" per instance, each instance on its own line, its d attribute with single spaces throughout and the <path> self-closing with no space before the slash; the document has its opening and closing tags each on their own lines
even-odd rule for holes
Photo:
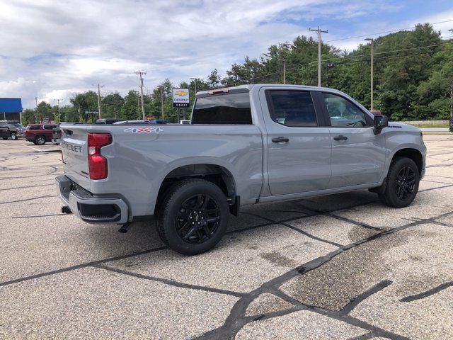
<svg viewBox="0 0 453 340">
<path fill-rule="evenodd" d="M 91 190 L 88 168 L 88 131 L 86 125 L 62 125 L 64 174 L 86 190 Z"/>
</svg>

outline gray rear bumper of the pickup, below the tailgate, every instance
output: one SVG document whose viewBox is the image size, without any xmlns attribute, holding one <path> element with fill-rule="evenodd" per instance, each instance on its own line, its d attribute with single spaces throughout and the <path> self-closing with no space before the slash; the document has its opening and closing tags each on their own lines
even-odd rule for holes
<svg viewBox="0 0 453 340">
<path fill-rule="evenodd" d="M 67 176 L 58 176 L 55 181 L 59 198 L 81 220 L 93 224 L 123 225 L 128 222 L 129 208 L 121 198 L 95 196 Z"/>
</svg>

